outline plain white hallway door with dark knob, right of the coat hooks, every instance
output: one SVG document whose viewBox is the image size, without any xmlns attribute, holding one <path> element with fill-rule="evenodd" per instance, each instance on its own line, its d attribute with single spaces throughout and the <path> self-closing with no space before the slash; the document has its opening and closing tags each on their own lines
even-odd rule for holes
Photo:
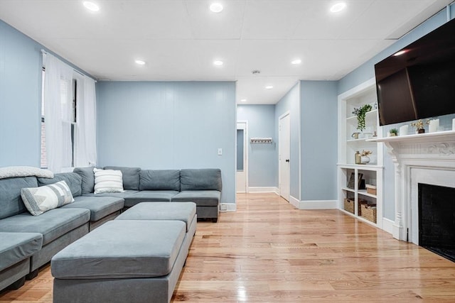
<svg viewBox="0 0 455 303">
<path fill-rule="evenodd" d="M 279 194 L 289 201 L 291 192 L 291 117 L 279 118 Z"/>
</svg>

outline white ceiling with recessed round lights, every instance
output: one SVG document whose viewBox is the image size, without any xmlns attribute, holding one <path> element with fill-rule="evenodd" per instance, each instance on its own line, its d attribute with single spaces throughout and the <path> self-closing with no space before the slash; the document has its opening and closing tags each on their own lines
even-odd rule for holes
<svg viewBox="0 0 455 303">
<path fill-rule="evenodd" d="M 0 19 L 97 79 L 237 81 L 237 102 L 275 104 L 299 79 L 340 79 L 453 0 L 346 0 L 341 13 L 333 0 L 219 0 L 221 13 L 215 0 L 92 1 L 100 11 L 0 0 Z"/>
</svg>

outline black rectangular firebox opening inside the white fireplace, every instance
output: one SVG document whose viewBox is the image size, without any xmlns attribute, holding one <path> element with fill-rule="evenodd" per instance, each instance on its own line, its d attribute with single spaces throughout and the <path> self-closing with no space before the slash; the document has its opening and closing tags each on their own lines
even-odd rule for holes
<svg viewBox="0 0 455 303">
<path fill-rule="evenodd" d="M 455 262 L 455 188 L 418 184 L 419 245 Z"/>
</svg>

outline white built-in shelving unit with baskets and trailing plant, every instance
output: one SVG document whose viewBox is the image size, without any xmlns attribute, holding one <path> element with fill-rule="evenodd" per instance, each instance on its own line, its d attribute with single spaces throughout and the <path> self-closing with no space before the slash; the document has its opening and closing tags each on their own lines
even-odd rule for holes
<svg viewBox="0 0 455 303">
<path fill-rule="evenodd" d="M 370 104 L 372 110 L 365 115 L 366 128 L 360 132 L 353 111 L 364 104 Z M 382 130 L 376 108 L 374 78 L 338 96 L 338 202 L 339 209 L 346 214 L 382 228 L 382 143 L 375 141 L 382 137 Z M 359 133 L 358 138 L 353 138 L 353 133 Z M 355 164 L 355 152 L 362 150 L 373 152 L 370 163 Z M 365 184 L 375 185 L 376 194 L 368 193 Z M 345 199 L 349 200 L 346 205 Z M 360 204 L 370 205 L 364 214 Z M 375 218 L 372 218 L 373 209 Z"/>
</svg>

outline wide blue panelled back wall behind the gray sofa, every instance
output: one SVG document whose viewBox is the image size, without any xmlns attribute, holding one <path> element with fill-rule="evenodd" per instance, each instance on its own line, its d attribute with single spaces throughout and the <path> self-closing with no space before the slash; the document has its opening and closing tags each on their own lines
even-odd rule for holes
<svg viewBox="0 0 455 303">
<path fill-rule="evenodd" d="M 97 111 L 99 165 L 220 168 L 235 203 L 235 82 L 98 82 Z"/>
</svg>

